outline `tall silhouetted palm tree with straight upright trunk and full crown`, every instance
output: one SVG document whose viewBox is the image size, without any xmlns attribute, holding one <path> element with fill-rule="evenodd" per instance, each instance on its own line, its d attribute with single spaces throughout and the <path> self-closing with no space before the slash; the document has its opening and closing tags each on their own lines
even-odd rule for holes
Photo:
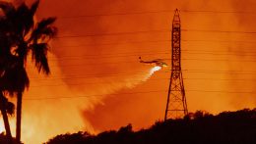
<svg viewBox="0 0 256 144">
<path fill-rule="evenodd" d="M 29 87 L 29 77 L 26 71 L 28 55 L 32 54 L 32 62 L 37 71 L 48 75 L 50 73 L 47 61 L 48 41 L 56 34 L 56 27 L 51 25 L 55 22 L 55 18 L 47 18 L 34 23 L 33 17 L 38 4 L 39 0 L 29 8 L 23 3 L 16 9 L 12 3 L 0 2 L 0 8 L 5 15 L 5 30 L 8 31 L 4 37 L 10 41 L 6 53 L 11 52 L 11 61 L 7 69 L 9 71 L 6 71 L 4 76 L 13 77 L 11 92 L 12 90 L 17 92 L 17 142 L 21 139 L 22 96 L 25 88 Z M 6 89 L 8 91 L 8 88 Z"/>
</svg>

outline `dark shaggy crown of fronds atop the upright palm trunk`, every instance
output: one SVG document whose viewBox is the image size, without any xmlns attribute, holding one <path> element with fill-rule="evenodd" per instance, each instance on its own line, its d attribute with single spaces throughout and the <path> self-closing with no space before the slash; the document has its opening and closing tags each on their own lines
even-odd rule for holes
<svg viewBox="0 0 256 144">
<path fill-rule="evenodd" d="M 35 0 L 31 8 L 22 3 L 16 9 L 12 3 L 0 2 L 0 9 L 5 14 L 0 16 L 0 89 L 11 95 L 29 87 L 30 80 L 24 65 L 29 52 L 32 52 L 37 71 L 50 73 L 47 40 L 56 35 L 57 28 L 52 26 L 56 18 L 34 24 L 33 16 L 38 5 L 39 0 Z M 15 54 L 11 53 L 13 47 Z"/>
</svg>

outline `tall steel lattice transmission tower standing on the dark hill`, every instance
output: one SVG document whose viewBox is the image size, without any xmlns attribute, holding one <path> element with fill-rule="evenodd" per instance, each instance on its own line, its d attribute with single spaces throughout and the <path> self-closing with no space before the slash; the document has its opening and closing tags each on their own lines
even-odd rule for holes
<svg viewBox="0 0 256 144">
<path fill-rule="evenodd" d="M 181 50 L 180 50 L 181 25 L 178 10 L 172 21 L 171 31 L 171 74 L 169 81 L 167 104 L 164 120 L 183 118 L 188 114 L 183 77 L 181 72 Z"/>
</svg>

